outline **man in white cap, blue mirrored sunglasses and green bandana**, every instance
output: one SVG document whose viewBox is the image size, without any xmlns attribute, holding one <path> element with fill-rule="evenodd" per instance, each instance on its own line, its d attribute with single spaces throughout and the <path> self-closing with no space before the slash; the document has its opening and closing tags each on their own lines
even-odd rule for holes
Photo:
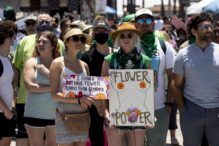
<svg viewBox="0 0 219 146">
<path fill-rule="evenodd" d="M 140 52 L 151 58 L 152 69 L 156 78 L 154 106 L 157 120 L 155 127 L 147 130 L 146 142 L 148 146 L 165 146 L 169 124 L 168 111 L 170 111 L 173 103 L 170 85 L 175 51 L 169 43 L 161 41 L 155 36 L 154 17 L 149 9 L 142 8 L 135 13 L 135 26 L 143 32 Z M 168 78 L 167 97 L 165 96 L 164 73 L 167 74 Z"/>
</svg>

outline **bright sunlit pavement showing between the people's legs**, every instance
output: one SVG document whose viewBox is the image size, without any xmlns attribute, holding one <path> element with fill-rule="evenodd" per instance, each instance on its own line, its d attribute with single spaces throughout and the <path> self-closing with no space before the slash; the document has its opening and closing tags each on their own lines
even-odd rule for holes
<svg viewBox="0 0 219 146">
<path fill-rule="evenodd" d="M 178 129 L 176 130 L 176 137 L 179 141 L 180 146 L 182 146 L 183 138 L 182 138 L 182 133 L 181 133 L 180 124 L 179 124 L 179 114 L 177 114 L 177 125 L 178 125 Z M 166 146 L 171 146 L 171 144 L 170 144 L 170 132 L 169 131 L 168 131 L 168 134 L 167 134 L 167 142 L 166 143 L 167 143 Z M 16 146 L 14 141 L 12 142 L 11 146 Z"/>
</svg>

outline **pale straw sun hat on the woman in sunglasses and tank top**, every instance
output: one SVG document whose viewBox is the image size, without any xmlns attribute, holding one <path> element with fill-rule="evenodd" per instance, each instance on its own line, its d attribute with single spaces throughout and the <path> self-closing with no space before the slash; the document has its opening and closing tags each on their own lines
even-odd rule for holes
<svg viewBox="0 0 219 146">
<path fill-rule="evenodd" d="M 91 36 L 88 34 L 85 34 L 81 31 L 81 29 L 79 28 L 72 28 L 70 29 L 68 32 L 66 32 L 66 34 L 64 35 L 64 42 L 66 42 L 66 40 L 74 35 L 83 35 L 86 37 L 86 43 L 88 44 L 91 41 Z"/>
</svg>

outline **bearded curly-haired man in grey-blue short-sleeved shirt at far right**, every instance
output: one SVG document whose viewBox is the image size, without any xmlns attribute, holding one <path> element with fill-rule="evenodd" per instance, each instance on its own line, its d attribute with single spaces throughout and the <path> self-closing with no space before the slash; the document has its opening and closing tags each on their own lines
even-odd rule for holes
<svg viewBox="0 0 219 146">
<path fill-rule="evenodd" d="M 212 42 L 212 22 L 206 13 L 192 17 L 188 28 L 195 43 L 180 50 L 174 64 L 174 93 L 184 146 L 201 145 L 204 134 L 209 145 L 219 145 L 219 46 Z"/>
</svg>

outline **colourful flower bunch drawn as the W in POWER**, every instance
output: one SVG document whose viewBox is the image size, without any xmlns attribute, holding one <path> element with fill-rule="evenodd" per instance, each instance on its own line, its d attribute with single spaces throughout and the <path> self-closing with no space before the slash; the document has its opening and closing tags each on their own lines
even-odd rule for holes
<svg viewBox="0 0 219 146">
<path fill-rule="evenodd" d="M 128 116 L 128 121 L 130 123 L 135 123 L 138 120 L 138 116 L 141 114 L 141 110 L 137 107 L 128 108 L 126 111 L 126 115 Z"/>
</svg>

